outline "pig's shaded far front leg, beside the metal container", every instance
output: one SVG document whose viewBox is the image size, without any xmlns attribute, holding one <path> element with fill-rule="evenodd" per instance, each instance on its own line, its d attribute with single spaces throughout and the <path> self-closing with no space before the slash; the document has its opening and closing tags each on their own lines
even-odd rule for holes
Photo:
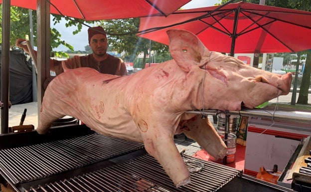
<svg viewBox="0 0 311 192">
<path fill-rule="evenodd" d="M 188 119 L 183 124 L 183 133 L 188 138 L 196 141 L 208 154 L 216 159 L 224 158 L 227 154 L 227 147 L 208 118 L 202 119 L 201 115 L 191 118 L 190 114 L 184 114 L 183 118 Z"/>
</svg>

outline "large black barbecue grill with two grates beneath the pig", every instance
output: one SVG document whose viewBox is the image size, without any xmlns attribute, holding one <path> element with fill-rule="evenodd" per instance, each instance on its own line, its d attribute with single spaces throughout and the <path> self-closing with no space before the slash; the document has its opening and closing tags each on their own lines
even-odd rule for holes
<svg viewBox="0 0 311 192">
<path fill-rule="evenodd" d="M 16 138 L 20 140 L 16 140 Z M 14 141 L 14 143 L 12 144 L 9 141 Z M 76 144 L 77 141 L 82 144 Z M 107 141 L 110 143 L 105 143 Z M 120 144 L 121 147 L 116 144 Z M 42 146 L 44 148 L 40 148 Z M 42 153 L 42 149 L 50 146 L 53 147 Z M 108 148 L 101 149 L 101 147 Z M 94 149 L 97 152 L 94 152 Z M 115 149 L 117 152 L 108 153 Z M 64 150 L 66 153 L 60 150 Z M 13 153 L 15 151 L 19 153 Z M 5 154 L 4 152 L 18 156 L 8 161 L 9 163 L 3 162 L 3 158 L 0 158 L 2 160 L 0 162 L 1 176 L 18 192 L 226 192 L 226 190 L 232 192 L 234 189 L 240 189 L 240 191 L 241 189 L 243 189 L 242 191 L 256 189 L 259 192 L 259 189 L 265 189 L 262 192 L 269 192 L 269 190 L 271 192 L 289 192 L 288 189 L 285 190 L 279 186 L 244 176 L 242 170 L 186 155 L 183 155 L 185 161 L 196 162 L 195 165 L 203 164 L 203 167 L 199 171 L 190 173 L 192 180 L 190 184 L 175 188 L 163 168 L 146 153 L 142 144 L 102 136 L 90 131 L 85 125 L 60 126 L 51 129 L 46 135 L 38 135 L 35 131 L 0 135 L 0 154 Z M 24 158 L 22 154 L 26 152 L 31 154 L 31 157 L 36 157 L 35 164 L 29 164 L 29 159 Z M 109 154 L 107 157 L 106 153 Z M 34 178 L 28 178 L 28 175 L 32 176 L 30 173 L 44 169 L 36 167 L 20 172 L 18 169 L 24 168 L 12 166 L 18 161 L 25 164 L 28 161 L 29 168 L 31 166 L 44 167 L 44 163 L 50 158 L 49 154 L 52 154 L 52 157 L 58 155 L 62 158 L 62 161 L 56 162 L 57 166 L 54 167 L 67 166 L 70 169 L 63 171 L 55 169 L 55 172 L 39 176 L 34 174 Z M 69 161 L 72 160 L 71 155 L 76 157 L 75 161 Z M 100 158 L 97 158 L 98 156 Z M 31 160 L 33 161 L 33 159 Z M 87 163 L 83 164 L 85 162 Z M 55 162 L 50 161 L 48 166 L 53 167 L 53 163 Z M 193 169 L 191 167 L 193 165 L 194 163 L 188 169 Z M 11 167 L 14 169 L 10 170 Z M 17 177 L 18 174 L 16 173 L 23 175 L 23 177 Z M 249 189 L 243 187 L 244 183 L 248 184 L 246 180 L 252 181 Z"/>
</svg>

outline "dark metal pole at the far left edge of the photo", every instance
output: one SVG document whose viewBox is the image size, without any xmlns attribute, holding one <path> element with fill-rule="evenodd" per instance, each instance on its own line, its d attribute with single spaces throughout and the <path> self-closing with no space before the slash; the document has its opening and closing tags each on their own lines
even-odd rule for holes
<svg viewBox="0 0 311 192">
<path fill-rule="evenodd" d="M 8 132 L 10 6 L 10 0 L 2 1 L 1 101 L 3 108 L 1 108 L 0 134 Z"/>
</svg>

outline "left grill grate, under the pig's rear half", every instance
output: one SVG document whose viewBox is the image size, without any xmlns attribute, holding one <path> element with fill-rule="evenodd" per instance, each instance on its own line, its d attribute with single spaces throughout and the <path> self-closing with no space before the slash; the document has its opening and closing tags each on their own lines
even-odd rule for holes
<svg viewBox="0 0 311 192">
<path fill-rule="evenodd" d="M 93 133 L 0 150 L 0 170 L 16 185 L 112 159 L 143 147 L 143 144 Z"/>
</svg>

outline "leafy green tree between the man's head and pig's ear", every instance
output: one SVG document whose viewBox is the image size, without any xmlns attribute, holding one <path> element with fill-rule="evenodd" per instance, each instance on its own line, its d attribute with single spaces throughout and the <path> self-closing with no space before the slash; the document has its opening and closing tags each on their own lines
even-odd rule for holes
<svg viewBox="0 0 311 192">
<path fill-rule="evenodd" d="M 131 55 L 130 60 L 134 60 L 143 51 L 144 58 L 142 65 L 137 67 L 145 68 L 150 40 L 136 35 L 139 28 L 139 18 L 102 20 L 100 21 L 100 25 L 105 28 L 108 35 L 108 42 L 113 49 L 120 53 L 125 51 L 127 53 L 126 55 Z M 162 51 L 168 51 L 168 46 L 153 41 L 151 43 L 151 49 L 160 53 Z"/>
</svg>

